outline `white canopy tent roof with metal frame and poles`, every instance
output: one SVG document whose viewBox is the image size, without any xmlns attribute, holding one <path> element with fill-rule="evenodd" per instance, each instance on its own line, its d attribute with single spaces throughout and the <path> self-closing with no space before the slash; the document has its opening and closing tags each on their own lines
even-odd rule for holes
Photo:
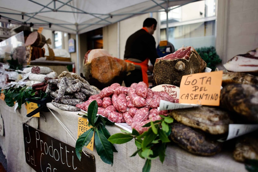
<svg viewBox="0 0 258 172">
<path fill-rule="evenodd" d="M 168 16 L 169 7 L 195 1 L 199 0 L 1 0 L 0 22 L 76 34 L 79 63 L 78 34 L 158 10 Z"/>
</svg>

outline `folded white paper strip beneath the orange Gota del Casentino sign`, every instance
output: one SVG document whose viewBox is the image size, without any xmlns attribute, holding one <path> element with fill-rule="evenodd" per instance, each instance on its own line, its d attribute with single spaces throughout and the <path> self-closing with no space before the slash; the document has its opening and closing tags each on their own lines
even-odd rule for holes
<svg viewBox="0 0 258 172">
<path fill-rule="evenodd" d="M 185 103 L 172 103 L 165 100 L 160 100 L 160 106 L 157 108 L 159 111 L 169 109 L 183 109 L 189 107 L 200 107 L 200 104 L 185 104 Z"/>
</svg>

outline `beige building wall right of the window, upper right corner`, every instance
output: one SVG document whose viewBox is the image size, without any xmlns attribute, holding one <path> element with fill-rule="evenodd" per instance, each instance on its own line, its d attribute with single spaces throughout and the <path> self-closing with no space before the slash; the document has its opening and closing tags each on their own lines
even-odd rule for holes
<svg viewBox="0 0 258 172">
<path fill-rule="evenodd" d="M 218 0 L 216 50 L 222 64 L 258 47 L 258 0 Z"/>
</svg>

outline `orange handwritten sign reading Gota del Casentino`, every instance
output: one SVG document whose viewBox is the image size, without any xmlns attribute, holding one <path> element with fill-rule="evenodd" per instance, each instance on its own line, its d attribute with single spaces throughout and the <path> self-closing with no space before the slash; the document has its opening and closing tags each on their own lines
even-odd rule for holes
<svg viewBox="0 0 258 172">
<path fill-rule="evenodd" d="M 179 103 L 219 106 L 222 74 L 217 71 L 183 76 Z"/>
</svg>

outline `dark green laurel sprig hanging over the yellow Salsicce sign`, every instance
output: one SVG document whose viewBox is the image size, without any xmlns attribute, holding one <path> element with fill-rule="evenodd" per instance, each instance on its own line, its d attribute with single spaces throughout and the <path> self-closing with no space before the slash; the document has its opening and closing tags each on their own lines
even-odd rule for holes
<svg viewBox="0 0 258 172">
<path fill-rule="evenodd" d="M 101 115 L 97 116 L 98 104 L 94 100 L 90 103 L 88 107 L 88 121 L 89 126 L 92 126 L 88 131 L 80 135 L 76 141 L 75 151 L 79 160 L 81 160 L 81 153 L 84 146 L 87 146 L 90 143 L 90 140 L 94 134 L 94 143 L 98 155 L 101 157 L 101 160 L 107 164 L 113 165 L 113 152 L 117 152 L 115 146 L 108 141 L 110 134 L 105 128 L 106 124 L 114 125 L 114 122 L 109 121 L 107 118 L 102 117 Z"/>
</svg>

